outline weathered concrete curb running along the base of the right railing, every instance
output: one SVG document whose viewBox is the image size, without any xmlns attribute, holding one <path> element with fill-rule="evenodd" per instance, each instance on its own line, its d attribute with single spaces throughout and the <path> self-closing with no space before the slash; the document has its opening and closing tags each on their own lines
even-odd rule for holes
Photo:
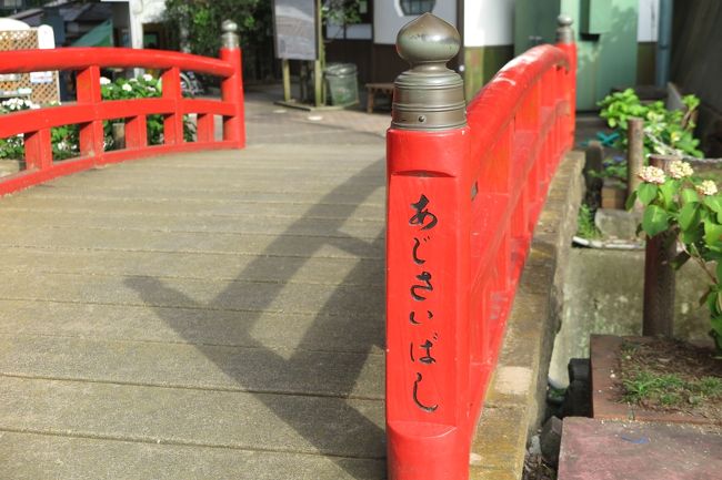
<svg viewBox="0 0 722 480">
<path fill-rule="evenodd" d="M 582 201 L 583 164 L 582 152 L 566 154 L 537 224 L 471 448 L 471 480 L 522 477 L 527 440 L 544 412 L 564 272 Z"/>
</svg>

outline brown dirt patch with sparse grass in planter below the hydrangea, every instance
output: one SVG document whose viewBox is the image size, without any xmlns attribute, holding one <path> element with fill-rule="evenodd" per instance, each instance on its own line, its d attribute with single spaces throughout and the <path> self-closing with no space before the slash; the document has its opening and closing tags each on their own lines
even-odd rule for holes
<svg viewBox="0 0 722 480">
<path fill-rule="evenodd" d="M 619 401 L 722 425 L 722 359 L 712 348 L 662 338 L 625 339 L 619 364 Z"/>
</svg>

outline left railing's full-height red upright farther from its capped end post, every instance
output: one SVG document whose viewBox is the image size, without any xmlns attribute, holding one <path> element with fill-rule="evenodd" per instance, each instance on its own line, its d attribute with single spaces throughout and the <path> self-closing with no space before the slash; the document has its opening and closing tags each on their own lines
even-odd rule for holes
<svg viewBox="0 0 722 480">
<path fill-rule="evenodd" d="M 100 95 L 100 68 L 88 67 L 78 72 L 77 98 L 79 104 L 84 104 L 88 111 L 94 111 L 94 105 L 101 102 Z M 91 156 L 99 161 L 103 156 L 103 122 L 92 120 L 80 125 L 80 155 Z"/>
</svg>

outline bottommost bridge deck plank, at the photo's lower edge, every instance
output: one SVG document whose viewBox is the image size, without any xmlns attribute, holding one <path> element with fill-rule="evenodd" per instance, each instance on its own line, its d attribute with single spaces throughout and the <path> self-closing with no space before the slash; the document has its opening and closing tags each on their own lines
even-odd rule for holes
<svg viewBox="0 0 722 480">
<path fill-rule="evenodd" d="M 107 459 L 108 461 L 99 461 Z M 382 480 L 385 461 L 0 431 L 0 478 Z"/>
</svg>

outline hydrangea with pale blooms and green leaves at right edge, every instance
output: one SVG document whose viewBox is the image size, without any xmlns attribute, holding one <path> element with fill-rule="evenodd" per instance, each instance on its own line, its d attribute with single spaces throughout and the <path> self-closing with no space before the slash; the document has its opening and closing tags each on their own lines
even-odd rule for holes
<svg viewBox="0 0 722 480">
<path fill-rule="evenodd" d="M 711 180 L 694 177 L 692 166 L 683 161 L 669 164 L 668 172 L 646 166 L 640 172 L 642 183 L 628 200 L 628 208 L 640 202 L 644 212 L 640 228 L 650 237 L 670 232 L 681 253 L 674 259 L 679 268 L 695 262 L 710 280 L 702 297 L 710 309 L 710 335 L 722 353 L 722 195 Z"/>
</svg>

